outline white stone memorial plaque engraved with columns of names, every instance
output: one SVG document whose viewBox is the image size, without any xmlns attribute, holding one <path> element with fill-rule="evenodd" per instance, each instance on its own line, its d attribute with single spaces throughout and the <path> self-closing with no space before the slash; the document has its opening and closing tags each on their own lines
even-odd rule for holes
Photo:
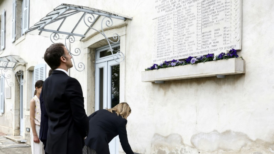
<svg viewBox="0 0 274 154">
<path fill-rule="evenodd" d="M 241 0 L 155 0 L 153 63 L 241 49 Z"/>
</svg>

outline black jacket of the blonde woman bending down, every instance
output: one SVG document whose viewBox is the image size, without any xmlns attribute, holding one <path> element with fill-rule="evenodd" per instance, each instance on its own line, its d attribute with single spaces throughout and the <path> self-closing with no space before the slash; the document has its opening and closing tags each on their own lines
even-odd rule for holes
<svg viewBox="0 0 274 154">
<path fill-rule="evenodd" d="M 117 135 L 126 154 L 134 154 L 127 140 L 127 119 L 102 109 L 89 116 L 89 135 L 85 144 L 97 154 L 109 154 L 108 143 Z"/>
</svg>

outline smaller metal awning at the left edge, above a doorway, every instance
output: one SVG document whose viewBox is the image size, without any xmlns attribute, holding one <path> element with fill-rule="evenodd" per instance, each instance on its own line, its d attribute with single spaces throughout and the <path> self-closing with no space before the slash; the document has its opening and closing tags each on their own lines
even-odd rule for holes
<svg viewBox="0 0 274 154">
<path fill-rule="evenodd" d="M 25 62 L 25 60 L 23 60 L 18 55 L 8 55 L 5 57 L 0 57 L 0 68 L 14 69 L 19 64 L 27 64 L 27 62 Z"/>
</svg>

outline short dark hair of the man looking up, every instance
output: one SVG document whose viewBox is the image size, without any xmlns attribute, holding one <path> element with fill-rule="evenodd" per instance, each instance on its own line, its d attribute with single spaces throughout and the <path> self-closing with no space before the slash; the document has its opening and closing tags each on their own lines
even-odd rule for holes
<svg viewBox="0 0 274 154">
<path fill-rule="evenodd" d="M 61 56 L 65 57 L 65 45 L 63 43 L 51 44 L 44 54 L 44 60 L 52 70 L 58 68 L 61 64 Z M 66 58 L 66 57 L 65 57 Z"/>
</svg>

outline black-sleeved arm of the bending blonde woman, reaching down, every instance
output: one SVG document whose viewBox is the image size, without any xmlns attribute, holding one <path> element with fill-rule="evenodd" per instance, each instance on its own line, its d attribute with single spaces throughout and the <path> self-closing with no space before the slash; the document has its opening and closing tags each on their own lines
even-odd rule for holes
<svg viewBox="0 0 274 154">
<path fill-rule="evenodd" d="M 122 146 L 123 150 L 125 151 L 125 153 L 126 154 L 134 154 L 130 147 L 130 144 L 128 143 L 128 140 L 127 140 L 127 129 L 125 127 L 126 124 L 127 124 L 127 120 L 124 119 L 124 122 L 118 128 L 119 139 L 120 139 L 121 146 Z"/>
</svg>

